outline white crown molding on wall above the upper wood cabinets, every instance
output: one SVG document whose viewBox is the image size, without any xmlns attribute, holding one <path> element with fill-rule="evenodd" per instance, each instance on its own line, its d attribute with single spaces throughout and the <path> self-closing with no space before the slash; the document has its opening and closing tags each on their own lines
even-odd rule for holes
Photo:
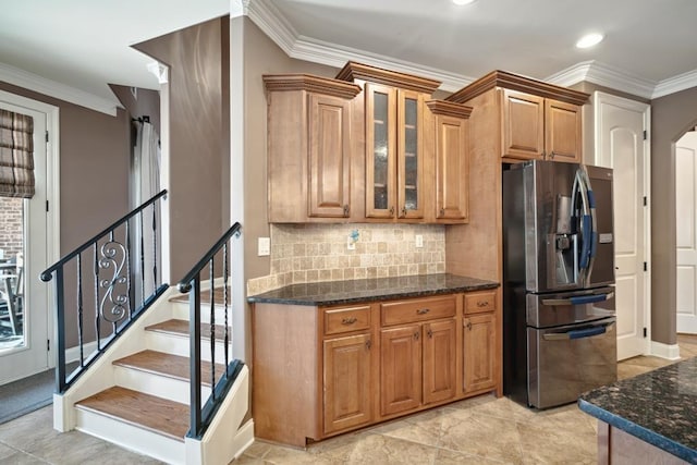
<svg viewBox="0 0 697 465">
<path fill-rule="evenodd" d="M 249 16 L 285 54 L 297 60 L 338 69 L 341 69 L 347 61 L 356 61 L 440 81 L 442 83 L 440 89 L 447 91 L 455 91 L 474 81 L 472 77 L 455 73 L 301 36 L 269 0 L 234 0 L 234 2 L 246 3 L 246 7 L 243 8 L 244 14 Z"/>
</svg>

